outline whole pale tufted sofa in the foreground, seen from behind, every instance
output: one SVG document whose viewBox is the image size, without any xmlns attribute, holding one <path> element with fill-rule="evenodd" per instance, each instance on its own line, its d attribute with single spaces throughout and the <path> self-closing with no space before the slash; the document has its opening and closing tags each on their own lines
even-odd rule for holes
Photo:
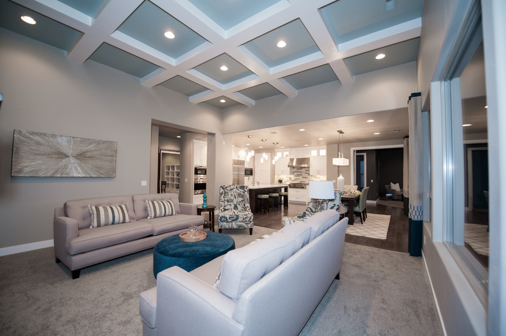
<svg viewBox="0 0 506 336">
<path fill-rule="evenodd" d="M 348 218 L 338 219 L 318 212 L 190 273 L 160 272 L 141 294 L 143 334 L 298 334 L 339 279 Z"/>
</svg>

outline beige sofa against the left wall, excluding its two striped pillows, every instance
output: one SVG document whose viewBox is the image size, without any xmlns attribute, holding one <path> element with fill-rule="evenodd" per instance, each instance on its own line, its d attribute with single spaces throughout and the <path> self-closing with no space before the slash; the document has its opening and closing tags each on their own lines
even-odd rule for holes
<svg viewBox="0 0 506 336">
<path fill-rule="evenodd" d="M 55 209 L 53 222 L 56 262 L 72 271 L 72 278 L 82 268 L 152 248 L 165 237 L 188 231 L 190 224 L 203 229 L 204 219 L 197 206 L 179 203 L 178 194 L 146 194 L 99 197 L 65 202 Z M 148 201 L 172 200 L 177 214 L 148 219 Z M 127 205 L 131 222 L 90 228 L 88 205 Z"/>
</svg>

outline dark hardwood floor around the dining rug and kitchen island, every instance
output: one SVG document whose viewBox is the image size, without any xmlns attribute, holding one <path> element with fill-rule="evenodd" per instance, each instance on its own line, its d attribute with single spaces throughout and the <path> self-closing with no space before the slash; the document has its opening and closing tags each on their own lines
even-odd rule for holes
<svg viewBox="0 0 506 336">
<path fill-rule="evenodd" d="M 305 204 L 289 203 L 288 208 L 270 209 L 265 214 L 263 211 L 257 212 L 254 217 L 254 225 L 279 230 L 282 227 L 281 219 L 283 217 L 294 216 L 302 213 L 305 209 Z M 344 239 L 345 242 L 408 253 L 408 218 L 404 215 L 402 208 L 381 204 L 367 204 L 367 213 L 390 215 L 390 226 L 388 227 L 386 241 L 347 234 Z M 360 225 L 360 222 L 358 222 L 358 225 Z"/>
</svg>

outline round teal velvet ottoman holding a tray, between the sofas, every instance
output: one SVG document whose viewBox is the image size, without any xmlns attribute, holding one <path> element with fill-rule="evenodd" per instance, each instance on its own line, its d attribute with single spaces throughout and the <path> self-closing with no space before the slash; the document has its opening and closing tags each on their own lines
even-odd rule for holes
<svg viewBox="0 0 506 336">
<path fill-rule="evenodd" d="M 236 248 L 232 237 L 223 233 L 207 232 L 200 242 L 181 242 L 179 235 L 159 241 L 153 251 L 153 274 L 156 275 L 172 266 L 187 272 Z"/>
</svg>

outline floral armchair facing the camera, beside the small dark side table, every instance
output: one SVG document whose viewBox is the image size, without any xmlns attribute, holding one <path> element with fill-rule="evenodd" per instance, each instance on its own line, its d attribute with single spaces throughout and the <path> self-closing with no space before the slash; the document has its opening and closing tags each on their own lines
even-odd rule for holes
<svg viewBox="0 0 506 336">
<path fill-rule="evenodd" d="M 218 232 L 221 229 L 247 229 L 253 233 L 253 213 L 249 206 L 249 188 L 245 185 L 220 186 L 220 213 Z"/>
</svg>

